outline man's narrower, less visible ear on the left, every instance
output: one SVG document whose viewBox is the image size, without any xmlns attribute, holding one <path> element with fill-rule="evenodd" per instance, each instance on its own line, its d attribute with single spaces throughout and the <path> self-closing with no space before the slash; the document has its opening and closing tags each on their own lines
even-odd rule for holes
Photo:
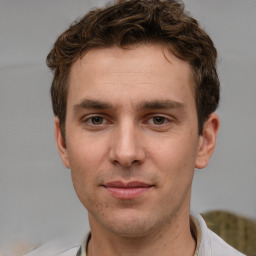
<svg viewBox="0 0 256 256">
<path fill-rule="evenodd" d="M 65 142 L 65 139 L 63 138 L 61 131 L 60 131 L 60 121 L 59 121 L 58 117 L 54 118 L 54 124 L 55 124 L 55 140 L 57 143 L 57 148 L 58 148 L 58 151 L 60 154 L 60 158 L 61 158 L 63 164 L 67 168 L 70 168 L 68 152 L 67 152 L 67 148 L 66 148 L 66 142 Z"/>
</svg>

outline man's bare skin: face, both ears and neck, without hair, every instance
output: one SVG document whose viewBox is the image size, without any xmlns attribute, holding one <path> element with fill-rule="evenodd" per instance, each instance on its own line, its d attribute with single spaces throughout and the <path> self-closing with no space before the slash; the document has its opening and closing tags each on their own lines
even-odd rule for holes
<svg viewBox="0 0 256 256">
<path fill-rule="evenodd" d="M 219 119 L 211 114 L 198 135 L 189 64 L 159 44 L 92 49 L 72 65 L 65 125 L 64 139 L 55 118 L 60 156 L 88 210 L 89 256 L 193 255 L 191 184 L 214 151 Z"/>
</svg>

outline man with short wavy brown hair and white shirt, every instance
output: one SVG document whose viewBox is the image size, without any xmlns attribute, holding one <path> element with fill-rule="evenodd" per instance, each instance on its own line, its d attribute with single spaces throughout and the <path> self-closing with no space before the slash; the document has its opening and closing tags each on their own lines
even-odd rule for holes
<svg viewBox="0 0 256 256">
<path fill-rule="evenodd" d="M 62 255 L 242 255 L 190 216 L 219 128 L 216 58 L 174 0 L 119 1 L 60 35 L 55 137 L 91 228 Z"/>
</svg>

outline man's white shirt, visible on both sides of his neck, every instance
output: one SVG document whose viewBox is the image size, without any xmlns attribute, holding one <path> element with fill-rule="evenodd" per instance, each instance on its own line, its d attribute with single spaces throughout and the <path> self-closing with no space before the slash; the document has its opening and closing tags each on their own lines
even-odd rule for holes
<svg viewBox="0 0 256 256">
<path fill-rule="evenodd" d="M 233 247 L 228 245 L 222 238 L 217 236 L 214 232 L 212 232 L 210 229 L 208 229 L 204 219 L 201 217 L 201 215 L 195 216 L 199 223 L 197 228 L 200 229 L 198 232 L 201 233 L 201 241 L 199 244 L 199 250 L 197 256 L 245 256 L 245 254 L 242 254 L 235 250 Z M 86 246 L 85 244 L 82 246 Z M 50 248 L 51 247 L 51 248 Z M 52 244 L 44 245 L 38 248 L 35 251 L 32 251 L 28 254 L 25 254 L 23 256 L 76 256 L 77 251 L 79 250 L 79 246 L 74 246 L 69 249 L 60 248 L 60 245 L 58 245 L 59 248 Z M 83 250 L 85 251 L 85 250 Z M 86 253 L 83 253 L 81 256 L 86 256 Z"/>
</svg>

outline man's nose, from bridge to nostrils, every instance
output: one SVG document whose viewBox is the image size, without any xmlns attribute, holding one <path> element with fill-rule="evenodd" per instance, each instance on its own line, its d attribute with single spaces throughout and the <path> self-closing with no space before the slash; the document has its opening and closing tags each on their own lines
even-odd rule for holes
<svg viewBox="0 0 256 256">
<path fill-rule="evenodd" d="M 140 165 L 146 154 L 139 128 L 134 124 L 122 124 L 116 127 L 109 151 L 110 160 L 114 165 L 124 168 Z"/>
</svg>

